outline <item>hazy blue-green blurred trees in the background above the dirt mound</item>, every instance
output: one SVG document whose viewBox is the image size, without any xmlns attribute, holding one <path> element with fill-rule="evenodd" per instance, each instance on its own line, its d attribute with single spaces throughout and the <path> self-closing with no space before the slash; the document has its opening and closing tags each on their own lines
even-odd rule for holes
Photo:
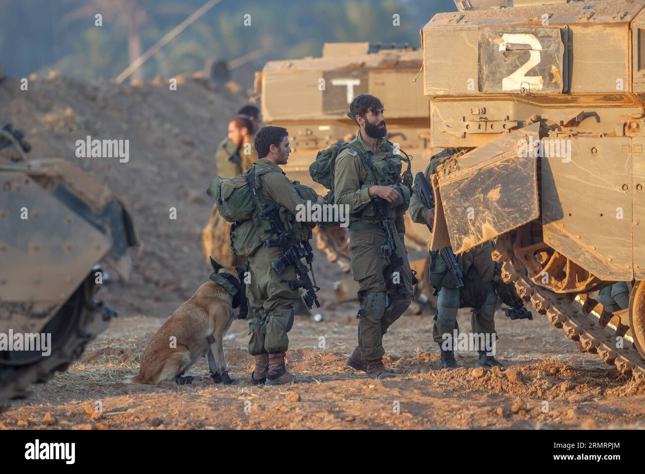
<svg viewBox="0 0 645 474">
<path fill-rule="evenodd" d="M 0 0 L 0 62 L 5 74 L 57 68 L 66 75 L 112 79 L 206 0 Z M 134 79 L 203 70 L 262 49 L 232 70 L 250 87 L 273 59 L 319 56 L 323 43 L 395 41 L 419 46 L 419 29 L 452 0 L 222 0 L 163 46 Z M 103 27 L 94 15 L 103 15 Z M 244 26 L 250 14 L 251 26 Z M 399 14 L 401 26 L 392 25 Z"/>
</svg>

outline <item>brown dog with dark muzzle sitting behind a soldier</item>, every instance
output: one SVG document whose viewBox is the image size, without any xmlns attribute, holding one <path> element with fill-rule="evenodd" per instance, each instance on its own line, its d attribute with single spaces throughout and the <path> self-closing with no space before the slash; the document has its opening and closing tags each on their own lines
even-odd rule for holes
<svg viewBox="0 0 645 474">
<path fill-rule="evenodd" d="M 243 268 L 223 267 L 213 259 L 210 262 L 219 277 L 232 284 L 237 281 L 234 285 L 237 295 L 246 292 Z M 224 335 L 233 322 L 232 302 L 233 295 L 224 286 L 215 281 L 204 283 L 148 342 L 139 375 L 124 382 L 156 384 L 173 380 L 176 384 L 190 384 L 201 377 L 184 376 L 184 373 L 198 359 L 207 357 L 208 370 L 215 383 L 232 383 L 224 357 Z"/>
</svg>

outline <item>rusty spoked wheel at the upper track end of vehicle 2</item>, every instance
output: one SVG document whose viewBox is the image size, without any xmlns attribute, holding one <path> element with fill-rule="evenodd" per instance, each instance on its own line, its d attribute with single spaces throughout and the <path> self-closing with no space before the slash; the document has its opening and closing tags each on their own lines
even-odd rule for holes
<svg viewBox="0 0 645 474">
<path fill-rule="evenodd" d="M 515 231 L 513 254 L 524 265 L 533 283 L 555 293 L 588 292 L 602 284 L 593 273 L 545 244 L 539 222 L 531 222 Z"/>
</svg>

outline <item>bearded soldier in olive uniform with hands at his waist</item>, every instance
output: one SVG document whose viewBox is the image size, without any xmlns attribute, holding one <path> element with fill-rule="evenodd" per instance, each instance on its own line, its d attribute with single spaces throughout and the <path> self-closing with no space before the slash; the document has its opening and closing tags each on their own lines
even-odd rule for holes
<svg viewBox="0 0 645 474">
<path fill-rule="evenodd" d="M 352 273 L 359 283 L 359 344 L 347 360 L 370 377 L 394 377 L 383 365 L 383 335 L 412 301 L 412 271 L 403 236 L 403 215 L 410 190 L 401 184 L 401 159 L 384 139 L 387 129 L 381 101 L 359 95 L 350 104 L 359 133 L 343 148 L 335 164 L 335 203 L 350 210 Z M 379 199 L 373 199 L 378 197 Z M 399 257 L 400 272 L 385 261 L 381 245 L 386 235 L 377 206 L 388 219 Z"/>
</svg>

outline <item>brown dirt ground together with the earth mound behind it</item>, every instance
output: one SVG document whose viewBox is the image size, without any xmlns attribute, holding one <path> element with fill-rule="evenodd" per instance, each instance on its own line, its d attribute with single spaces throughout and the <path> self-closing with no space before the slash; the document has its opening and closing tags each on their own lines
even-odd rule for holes
<svg viewBox="0 0 645 474">
<path fill-rule="evenodd" d="M 324 321 L 297 317 L 287 357 L 290 370 L 312 382 L 252 386 L 248 326 L 234 321 L 224 344 L 234 384 L 213 384 L 205 360 L 192 370 L 204 380 L 192 386 L 121 383 L 137 373 L 146 342 L 163 321 L 208 279 L 200 236 L 212 206 L 204 192 L 213 150 L 225 117 L 246 103 L 241 93 L 195 79 L 176 92 L 55 74 L 31 81 L 28 93 L 19 91 L 17 79 L 0 84 L 0 118 L 25 130 L 31 155 L 65 157 L 110 186 L 132 212 L 143 242 L 130 282 L 114 275 L 99 293 L 119 317 L 68 371 L 0 413 L 0 428 L 645 428 L 645 390 L 596 355 L 581 353 L 539 315 L 535 321 L 497 315 L 497 355 L 505 370 L 475 370 L 474 352 L 457 354 L 462 368 L 439 370 L 430 311 L 404 316 L 388 331 L 386 364 L 396 379 L 372 380 L 347 368 L 357 341 L 357 303 L 334 302 L 332 282 L 346 274 L 319 250 Z M 130 139 L 130 162 L 75 158 L 75 140 L 86 135 Z M 170 206 L 177 221 L 168 219 Z M 459 318 L 462 330 L 470 330 L 468 311 Z"/>
</svg>

